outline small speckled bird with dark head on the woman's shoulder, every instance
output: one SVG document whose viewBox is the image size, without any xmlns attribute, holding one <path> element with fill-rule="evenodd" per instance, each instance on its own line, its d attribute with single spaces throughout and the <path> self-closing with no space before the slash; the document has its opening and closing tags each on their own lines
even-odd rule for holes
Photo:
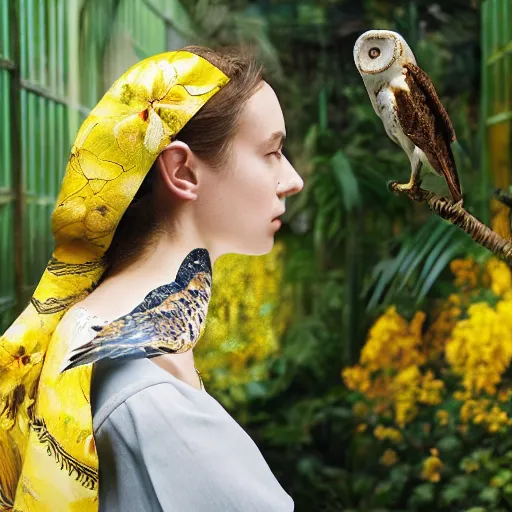
<svg viewBox="0 0 512 512">
<path fill-rule="evenodd" d="M 68 355 L 61 373 L 105 358 L 151 358 L 190 350 L 206 319 L 211 286 L 208 251 L 194 249 L 181 263 L 175 281 L 150 292 L 127 315 L 93 327 L 97 336 Z"/>
</svg>

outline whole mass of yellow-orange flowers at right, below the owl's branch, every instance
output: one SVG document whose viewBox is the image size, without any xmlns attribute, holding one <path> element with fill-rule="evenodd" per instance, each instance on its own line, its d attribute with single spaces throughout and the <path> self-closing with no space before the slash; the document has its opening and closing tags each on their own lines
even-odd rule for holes
<svg viewBox="0 0 512 512">
<path fill-rule="evenodd" d="M 365 395 L 374 413 L 392 412 L 403 427 L 417 416 L 420 404 L 442 402 L 444 382 L 426 367 L 448 363 L 462 383 L 453 394 L 463 402 L 457 428 L 464 433 L 473 423 L 498 432 L 512 422 L 499 407 L 512 398 L 512 389 L 502 382 L 512 363 L 512 272 L 497 258 L 484 265 L 473 258 L 454 260 L 451 269 L 458 293 L 438 303 L 426 332 L 424 313 L 417 312 L 409 323 L 390 307 L 372 326 L 359 364 L 342 376 L 349 389 Z M 493 292 L 495 304 L 481 301 L 483 289 Z M 439 410 L 436 419 L 447 426 L 448 411 Z"/>
</svg>

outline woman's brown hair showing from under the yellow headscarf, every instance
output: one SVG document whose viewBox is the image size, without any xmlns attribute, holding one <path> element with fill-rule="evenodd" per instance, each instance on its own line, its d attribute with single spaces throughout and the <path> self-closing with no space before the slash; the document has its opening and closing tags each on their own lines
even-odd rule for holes
<svg viewBox="0 0 512 512">
<path fill-rule="evenodd" d="M 261 85 L 263 69 L 247 51 L 216 51 L 202 46 L 187 46 L 183 50 L 205 58 L 230 78 L 175 137 L 218 170 L 229 158 L 230 143 L 242 109 Z M 153 188 L 157 165 L 155 161 L 121 218 L 105 254 L 107 271 L 104 277 L 128 266 L 156 241 L 158 218 Z"/>
</svg>

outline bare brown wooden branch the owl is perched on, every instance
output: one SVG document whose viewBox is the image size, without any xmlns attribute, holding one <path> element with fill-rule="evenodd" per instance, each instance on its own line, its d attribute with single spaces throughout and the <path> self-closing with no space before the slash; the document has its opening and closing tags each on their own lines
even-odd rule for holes
<svg viewBox="0 0 512 512">
<path fill-rule="evenodd" d="M 394 185 L 396 185 L 395 182 L 391 183 L 390 188 L 395 193 L 405 195 L 417 203 L 427 203 L 433 213 L 458 226 L 475 242 L 489 249 L 512 266 L 512 241 L 505 240 L 476 217 L 473 217 L 463 206 L 453 204 L 445 197 L 434 194 L 429 190 L 420 188 L 414 192 L 404 192 L 396 189 Z"/>
</svg>

